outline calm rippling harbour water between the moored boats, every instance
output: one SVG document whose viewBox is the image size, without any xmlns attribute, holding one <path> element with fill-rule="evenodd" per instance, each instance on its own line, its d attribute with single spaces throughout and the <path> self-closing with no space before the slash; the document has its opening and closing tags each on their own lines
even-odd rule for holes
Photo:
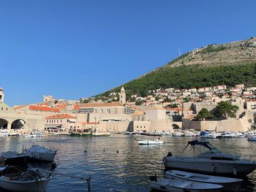
<svg viewBox="0 0 256 192">
<path fill-rule="evenodd" d="M 171 151 L 181 153 L 191 137 L 161 137 L 162 146 L 138 145 L 133 135 L 110 137 L 7 137 L 0 138 L 1 152 L 16 150 L 23 145 L 43 145 L 58 148 L 59 164 L 56 172 L 91 176 L 91 191 L 150 191 L 148 176 L 157 172 L 163 176 L 162 158 Z M 153 137 L 141 137 L 156 139 Z M 256 160 L 256 142 L 246 139 L 211 139 L 213 145 L 225 153 Z M 84 151 L 86 150 L 86 153 Z M 86 181 L 53 176 L 47 191 L 87 191 Z M 256 191 L 256 172 L 246 177 L 241 191 Z M 0 189 L 0 192 L 5 192 Z"/>
</svg>

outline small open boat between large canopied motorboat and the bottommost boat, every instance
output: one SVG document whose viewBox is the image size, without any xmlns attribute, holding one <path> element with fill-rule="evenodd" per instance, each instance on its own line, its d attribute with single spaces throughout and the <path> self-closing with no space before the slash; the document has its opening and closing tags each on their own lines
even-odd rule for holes
<svg viewBox="0 0 256 192">
<path fill-rule="evenodd" d="M 191 172 L 180 172 L 177 170 L 171 170 L 165 172 L 165 177 L 167 179 L 172 180 L 189 180 L 189 181 L 195 181 L 195 182 L 201 182 L 201 183 L 211 183 L 211 184 L 217 184 L 222 185 L 223 191 L 239 191 L 239 188 L 241 186 L 241 183 L 243 180 L 240 180 L 238 178 L 230 178 L 230 177 L 217 177 L 212 175 L 206 175 L 206 174 L 196 174 Z"/>
</svg>

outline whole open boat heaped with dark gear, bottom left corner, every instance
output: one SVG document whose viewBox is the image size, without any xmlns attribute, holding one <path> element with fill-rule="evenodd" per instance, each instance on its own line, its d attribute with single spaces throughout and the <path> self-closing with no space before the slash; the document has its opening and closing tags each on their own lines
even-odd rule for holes
<svg viewBox="0 0 256 192">
<path fill-rule="evenodd" d="M 43 175 L 38 170 L 4 174 L 0 177 L 0 187 L 7 191 L 45 192 L 50 175 Z"/>
</svg>

